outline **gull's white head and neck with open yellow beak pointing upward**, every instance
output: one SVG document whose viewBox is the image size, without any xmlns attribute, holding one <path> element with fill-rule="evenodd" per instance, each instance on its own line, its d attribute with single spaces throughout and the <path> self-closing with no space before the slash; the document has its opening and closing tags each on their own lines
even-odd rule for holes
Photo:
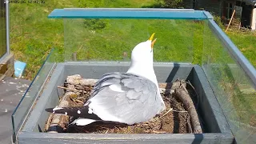
<svg viewBox="0 0 256 144">
<path fill-rule="evenodd" d="M 156 41 L 156 39 L 152 41 L 153 38 L 154 34 L 152 34 L 150 39 L 146 42 L 141 42 L 134 47 L 134 50 L 131 53 L 130 69 L 127 71 L 127 73 L 137 74 L 139 76 L 148 78 L 158 85 L 158 81 L 153 69 L 153 46 L 154 42 Z"/>
</svg>

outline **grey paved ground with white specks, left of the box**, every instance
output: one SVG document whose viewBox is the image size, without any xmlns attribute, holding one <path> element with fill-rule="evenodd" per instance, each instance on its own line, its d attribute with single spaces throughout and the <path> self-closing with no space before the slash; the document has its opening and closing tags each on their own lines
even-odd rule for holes
<svg viewBox="0 0 256 144">
<path fill-rule="evenodd" d="M 0 82 L 0 144 L 11 143 L 11 114 L 29 85 L 30 81 L 15 78 Z"/>
</svg>

